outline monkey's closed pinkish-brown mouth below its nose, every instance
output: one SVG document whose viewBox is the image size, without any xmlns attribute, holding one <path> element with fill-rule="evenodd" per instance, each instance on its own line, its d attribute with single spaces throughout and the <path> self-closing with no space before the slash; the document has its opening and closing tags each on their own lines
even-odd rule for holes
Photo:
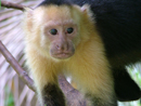
<svg viewBox="0 0 141 106">
<path fill-rule="evenodd" d="M 64 58 L 68 58 L 73 55 L 74 53 L 65 53 L 65 52 L 61 52 L 61 53 L 55 53 L 53 54 L 52 56 L 55 57 L 55 58 L 60 58 L 60 59 L 64 59 Z"/>
</svg>

